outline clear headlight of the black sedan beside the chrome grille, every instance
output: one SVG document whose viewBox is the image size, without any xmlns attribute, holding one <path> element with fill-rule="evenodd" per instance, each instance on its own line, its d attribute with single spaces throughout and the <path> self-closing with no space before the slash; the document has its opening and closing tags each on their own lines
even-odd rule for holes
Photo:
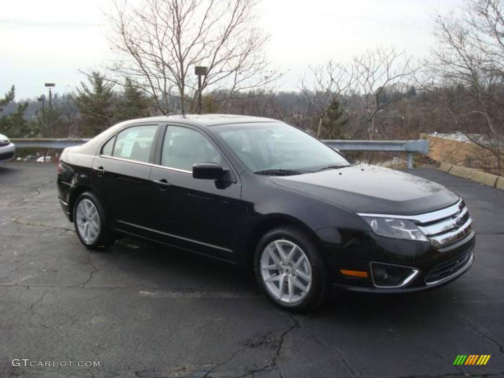
<svg viewBox="0 0 504 378">
<path fill-rule="evenodd" d="M 411 221 L 406 219 L 362 217 L 376 235 L 398 239 L 429 241 L 427 236 Z"/>
</svg>

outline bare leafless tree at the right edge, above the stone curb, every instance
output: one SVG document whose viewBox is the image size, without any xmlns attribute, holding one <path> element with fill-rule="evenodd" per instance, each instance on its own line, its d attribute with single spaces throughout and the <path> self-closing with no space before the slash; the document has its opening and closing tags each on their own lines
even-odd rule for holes
<svg viewBox="0 0 504 378">
<path fill-rule="evenodd" d="M 463 86 L 472 102 L 446 107 L 454 125 L 494 156 L 498 171 L 504 168 L 504 18 L 502 0 L 465 0 L 460 12 L 436 18 L 437 45 L 432 72 L 439 85 Z M 464 119 L 481 124 L 474 138 Z M 464 130 L 465 129 L 465 130 Z"/>
</svg>

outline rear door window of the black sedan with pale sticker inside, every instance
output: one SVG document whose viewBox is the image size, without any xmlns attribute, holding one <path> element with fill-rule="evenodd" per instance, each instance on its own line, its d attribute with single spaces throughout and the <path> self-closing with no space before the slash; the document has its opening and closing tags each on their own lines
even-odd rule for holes
<svg viewBox="0 0 504 378">
<path fill-rule="evenodd" d="M 149 162 L 156 130 L 157 125 L 146 124 L 121 131 L 117 134 L 112 156 L 144 163 Z"/>
</svg>

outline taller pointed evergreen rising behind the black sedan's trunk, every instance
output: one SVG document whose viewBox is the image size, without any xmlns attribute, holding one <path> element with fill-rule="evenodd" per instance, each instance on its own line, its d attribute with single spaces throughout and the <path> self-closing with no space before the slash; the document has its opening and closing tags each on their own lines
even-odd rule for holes
<svg viewBox="0 0 504 378">
<path fill-rule="evenodd" d="M 107 84 L 105 77 L 93 71 L 88 77 L 89 86 L 81 82 L 77 88 L 75 104 L 82 118 L 81 132 L 94 137 L 111 125 L 113 116 L 113 85 Z"/>
</svg>

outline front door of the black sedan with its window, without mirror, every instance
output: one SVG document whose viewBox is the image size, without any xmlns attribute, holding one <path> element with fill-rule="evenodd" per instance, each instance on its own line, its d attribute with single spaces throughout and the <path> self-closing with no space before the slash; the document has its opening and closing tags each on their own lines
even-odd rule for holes
<svg viewBox="0 0 504 378">
<path fill-rule="evenodd" d="M 197 129 L 168 125 L 159 144 L 159 167 L 153 167 L 152 228 L 165 242 L 234 260 L 234 240 L 242 214 L 241 185 L 228 180 L 196 179 L 196 163 L 230 168 L 215 144 Z"/>
</svg>

